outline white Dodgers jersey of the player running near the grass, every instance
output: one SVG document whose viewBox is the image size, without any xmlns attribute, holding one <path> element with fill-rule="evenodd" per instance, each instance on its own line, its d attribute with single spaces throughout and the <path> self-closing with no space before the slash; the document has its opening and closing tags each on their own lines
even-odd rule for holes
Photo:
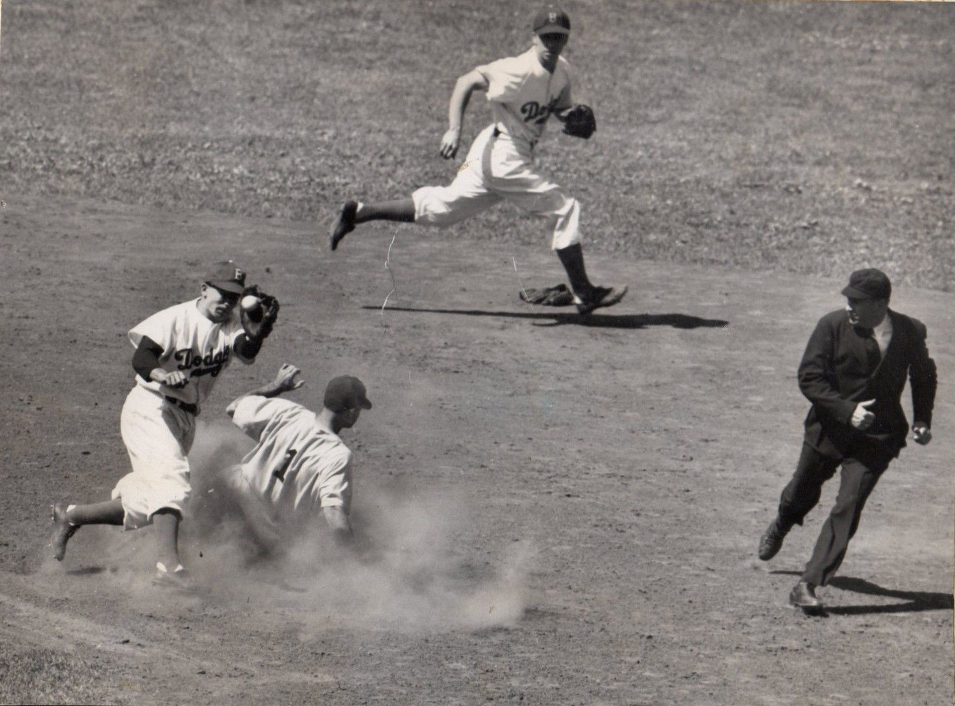
<svg viewBox="0 0 955 706">
<path fill-rule="evenodd" d="M 493 61 L 475 70 L 488 82 L 486 97 L 501 132 L 536 142 L 564 90 L 569 91 L 569 67 L 563 57 L 551 74 L 533 49 Z"/>
</svg>

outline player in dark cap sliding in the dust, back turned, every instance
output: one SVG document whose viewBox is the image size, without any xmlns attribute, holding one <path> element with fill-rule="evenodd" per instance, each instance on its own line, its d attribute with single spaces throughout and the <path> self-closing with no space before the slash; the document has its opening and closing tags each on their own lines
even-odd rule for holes
<svg viewBox="0 0 955 706">
<path fill-rule="evenodd" d="M 244 515 L 258 544 L 281 550 L 318 515 L 332 536 L 350 545 L 351 452 L 338 432 L 371 409 L 357 377 L 333 378 L 317 414 L 278 396 L 304 382 L 299 369 L 283 365 L 275 380 L 234 399 L 225 413 L 255 447 L 224 472 L 223 486 Z"/>
</svg>

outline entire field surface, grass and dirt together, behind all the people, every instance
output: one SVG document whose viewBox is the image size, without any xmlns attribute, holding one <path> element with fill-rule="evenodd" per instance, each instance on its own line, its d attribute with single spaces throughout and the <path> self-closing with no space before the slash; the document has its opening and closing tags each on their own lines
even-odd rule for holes
<svg viewBox="0 0 955 706">
<path fill-rule="evenodd" d="M 595 280 L 630 288 L 612 310 L 521 303 L 563 275 L 506 206 L 329 253 L 345 196 L 450 178 L 454 79 L 519 52 L 533 5 L 3 3 L 0 703 L 951 702 L 955 14 L 568 2 L 599 131 L 539 152 Z M 84 527 L 56 563 L 49 504 L 128 469 L 126 332 L 223 258 L 282 311 L 200 417 L 182 545 L 204 592 L 149 585 L 149 529 Z M 803 347 L 867 265 L 928 326 L 935 439 L 881 479 L 809 618 L 786 598 L 836 483 L 771 563 L 755 549 Z M 225 405 L 285 362 L 308 406 L 333 375 L 368 385 L 343 434 L 368 561 L 321 538 L 253 561 L 215 492 L 248 445 Z"/>
</svg>

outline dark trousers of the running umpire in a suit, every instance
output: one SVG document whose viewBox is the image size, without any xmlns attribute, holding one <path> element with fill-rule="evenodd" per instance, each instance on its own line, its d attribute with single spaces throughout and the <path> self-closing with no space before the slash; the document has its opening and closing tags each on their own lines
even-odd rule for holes
<svg viewBox="0 0 955 706">
<path fill-rule="evenodd" d="M 863 460 L 850 456 L 834 458 L 820 454 L 808 443 L 802 444 L 796 473 L 783 488 L 779 499 L 780 524 L 802 524 L 806 514 L 819 502 L 822 484 L 836 474 L 839 465 L 842 466 L 836 505 L 822 525 L 813 556 L 802 574 L 802 581 L 825 586 L 842 564 L 849 540 L 859 528 L 859 517 L 865 501 L 893 458 L 887 452 L 871 451 L 859 455 Z"/>
</svg>

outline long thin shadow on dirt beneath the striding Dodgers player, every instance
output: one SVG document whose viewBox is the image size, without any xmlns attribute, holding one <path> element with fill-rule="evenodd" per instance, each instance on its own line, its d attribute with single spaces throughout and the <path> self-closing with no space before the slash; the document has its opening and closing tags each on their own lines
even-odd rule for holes
<svg viewBox="0 0 955 706">
<path fill-rule="evenodd" d="M 382 310 L 381 307 L 362 307 L 362 309 Z M 581 315 L 564 311 L 485 311 L 479 309 L 415 309 L 412 307 L 386 307 L 386 311 L 405 311 L 410 313 L 450 313 L 458 316 L 497 316 L 512 319 L 527 319 L 536 322 L 535 326 L 585 326 L 594 329 L 646 329 L 648 326 L 671 326 L 674 329 L 725 329 L 729 321 L 722 319 L 703 319 L 685 313 L 639 313 L 611 314 L 591 313 Z M 541 322 L 541 323 L 537 323 Z"/>
</svg>

